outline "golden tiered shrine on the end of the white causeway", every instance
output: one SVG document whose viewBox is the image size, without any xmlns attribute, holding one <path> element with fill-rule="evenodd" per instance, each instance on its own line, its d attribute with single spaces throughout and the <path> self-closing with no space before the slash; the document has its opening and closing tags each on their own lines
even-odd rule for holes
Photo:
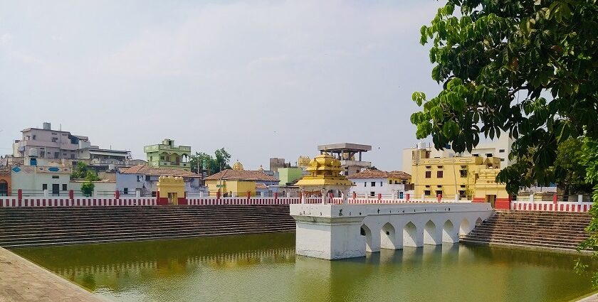
<svg viewBox="0 0 598 302">
<path fill-rule="evenodd" d="M 342 203 L 347 203 L 349 189 L 355 185 L 346 176 L 340 175 L 342 169 L 337 158 L 324 152 L 310 161 L 307 171 L 310 173 L 303 176 L 297 186 L 301 190 L 301 203 L 305 203 L 305 195 L 321 195 L 322 204 L 329 203 L 329 194 L 342 193 Z"/>
</svg>

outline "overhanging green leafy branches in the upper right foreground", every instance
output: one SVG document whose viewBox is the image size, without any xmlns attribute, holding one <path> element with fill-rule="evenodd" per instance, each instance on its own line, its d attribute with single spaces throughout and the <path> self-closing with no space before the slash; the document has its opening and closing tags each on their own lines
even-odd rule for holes
<svg viewBox="0 0 598 302">
<path fill-rule="evenodd" d="M 429 42 L 431 77 L 443 90 L 412 96 L 423 107 L 411 115 L 419 139 L 461 152 L 481 134 L 506 131 L 515 139 L 510 157 L 533 149 L 530 177 L 547 185 L 562 141 L 598 138 L 595 0 L 449 0 L 421 27 L 421 43 Z M 508 167 L 498 180 L 515 193 L 520 173 Z"/>
</svg>

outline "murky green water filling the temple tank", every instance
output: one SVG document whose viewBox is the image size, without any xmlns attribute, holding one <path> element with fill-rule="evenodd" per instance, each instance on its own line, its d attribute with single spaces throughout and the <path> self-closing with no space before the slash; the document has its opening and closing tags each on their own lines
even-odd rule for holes
<svg viewBox="0 0 598 302">
<path fill-rule="evenodd" d="M 15 249 L 114 301 L 569 301 L 576 254 L 460 244 L 295 257 L 295 234 Z"/>
</svg>

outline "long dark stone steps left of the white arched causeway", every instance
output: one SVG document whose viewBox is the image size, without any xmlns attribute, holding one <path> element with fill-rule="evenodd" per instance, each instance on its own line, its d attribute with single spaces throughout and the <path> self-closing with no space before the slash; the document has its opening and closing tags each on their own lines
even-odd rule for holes
<svg viewBox="0 0 598 302">
<path fill-rule="evenodd" d="M 293 232 L 288 205 L 0 208 L 0 246 Z"/>
</svg>

